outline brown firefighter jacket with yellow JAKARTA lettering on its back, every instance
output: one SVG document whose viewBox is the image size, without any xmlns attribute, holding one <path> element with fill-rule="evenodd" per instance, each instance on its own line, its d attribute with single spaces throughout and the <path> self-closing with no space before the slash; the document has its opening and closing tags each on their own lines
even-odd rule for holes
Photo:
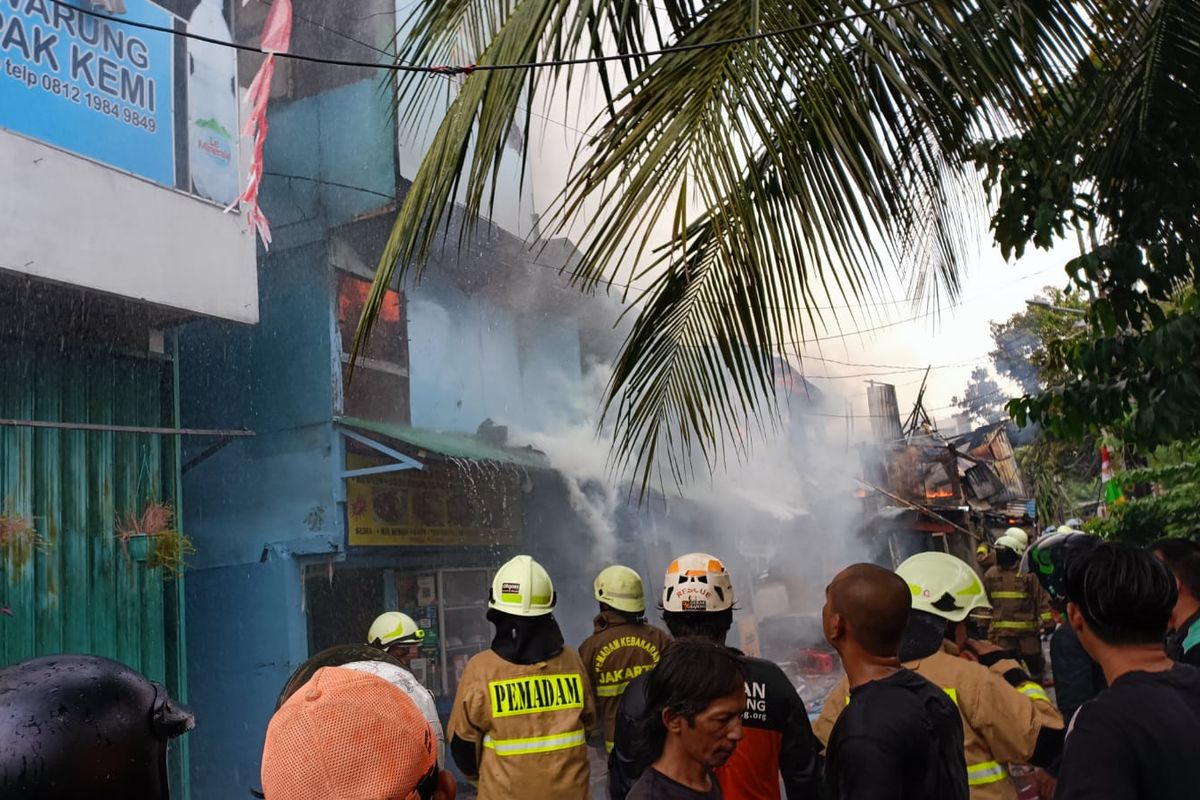
<svg viewBox="0 0 1200 800">
<path fill-rule="evenodd" d="M 612 752 L 620 696 L 629 681 L 658 666 L 670 640 L 671 637 L 653 625 L 635 622 L 619 612 L 606 609 L 595 618 L 595 633 L 580 645 L 580 657 L 592 679 L 596 710 L 604 721 L 607 752 Z"/>
</svg>

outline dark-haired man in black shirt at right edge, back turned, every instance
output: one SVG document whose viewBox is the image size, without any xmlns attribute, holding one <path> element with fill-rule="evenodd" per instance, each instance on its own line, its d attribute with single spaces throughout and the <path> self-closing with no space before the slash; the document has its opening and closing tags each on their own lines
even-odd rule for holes
<svg viewBox="0 0 1200 800">
<path fill-rule="evenodd" d="M 1066 594 L 1070 625 L 1109 688 L 1075 714 L 1055 796 L 1195 798 L 1200 670 L 1163 649 L 1171 573 L 1147 551 L 1104 542 L 1072 564 Z"/>
</svg>

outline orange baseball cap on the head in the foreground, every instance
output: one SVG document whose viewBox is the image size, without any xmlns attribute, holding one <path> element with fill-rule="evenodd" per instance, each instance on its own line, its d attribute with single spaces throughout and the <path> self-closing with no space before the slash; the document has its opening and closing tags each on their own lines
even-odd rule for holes
<svg viewBox="0 0 1200 800">
<path fill-rule="evenodd" d="M 263 747 L 268 800 L 415 800 L 432 795 L 437 738 L 388 681 L 325 667 L 271 717 Z"/>
</svg>

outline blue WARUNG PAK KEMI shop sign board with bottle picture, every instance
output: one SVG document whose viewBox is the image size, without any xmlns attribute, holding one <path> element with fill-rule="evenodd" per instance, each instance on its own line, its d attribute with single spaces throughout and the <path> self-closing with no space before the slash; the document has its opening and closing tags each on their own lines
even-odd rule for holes
<svg viewBox="0 0 1200 800">
<path fill-rule="evenodd" d="M 168 32 L 229 42 L 230 14 L 229 0 L 0 0 L 0 127 L 232 204 L 234 52 Z"/>
</svg>

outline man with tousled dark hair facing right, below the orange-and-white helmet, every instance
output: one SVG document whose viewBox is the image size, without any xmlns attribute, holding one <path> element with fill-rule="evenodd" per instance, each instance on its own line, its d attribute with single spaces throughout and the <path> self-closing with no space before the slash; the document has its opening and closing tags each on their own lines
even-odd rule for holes
<svg viewBox="0 0 1200 800">
<path fill-rule="evenodd" d="M 742 740 L 743 660 L 710 639 L 671 645 L 647 680 L 643 738 L 659 753 L 628 800 L 721 800 L 713 770 Z"/>
</svg>

